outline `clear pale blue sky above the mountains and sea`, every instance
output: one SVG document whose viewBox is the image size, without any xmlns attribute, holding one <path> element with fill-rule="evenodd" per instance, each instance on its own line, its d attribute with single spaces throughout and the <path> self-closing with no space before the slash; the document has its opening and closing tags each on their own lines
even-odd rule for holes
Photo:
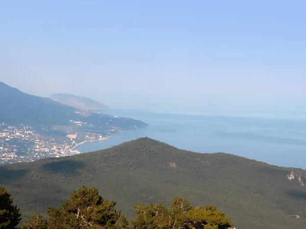
<svg viewBox="0 0 306 229">
<path fill-rule="evenodd" d="M 0 1 L 0 81 L 112 107 L 300 111 L 305 8 L 272 0 Z"/>
</svg>

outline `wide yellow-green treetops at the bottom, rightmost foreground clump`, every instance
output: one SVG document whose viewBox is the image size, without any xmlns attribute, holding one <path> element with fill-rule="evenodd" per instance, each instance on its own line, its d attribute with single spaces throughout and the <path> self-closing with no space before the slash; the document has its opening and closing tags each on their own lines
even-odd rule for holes
<svg viewBox="0 0 306 229">
<path fill-rule="evenodd" d="M 178 197 L 167 209 L 163 204 L 134 207 L 136 217 L 132 221 L 135 229 L 225 229 L 233 226 L 230 217 L 211 205 L 193 207 L 186 198 Z"/>
</svg>

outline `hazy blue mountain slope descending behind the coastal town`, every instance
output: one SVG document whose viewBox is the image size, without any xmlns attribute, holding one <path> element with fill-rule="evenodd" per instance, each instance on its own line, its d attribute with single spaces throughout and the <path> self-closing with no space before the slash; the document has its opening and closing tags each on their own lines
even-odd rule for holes
<svg viewBox="0 0 306 229">
<path fill-rule="evenodd" d="M 20 123 L 34 126 L 69 125 L 70 120 L 89 122 L 93 125 L 90 129 L 100 128 L 100 130 L 109 125 L 122 129 L 147 125 L 138 120 L 114 117 L 94 111 L 80 112 L 80 109 L 50 98 L 23 93 L 4 82 L 0 82 L 0 107 L 0 123 L 11 125 Z"/>
</svg>

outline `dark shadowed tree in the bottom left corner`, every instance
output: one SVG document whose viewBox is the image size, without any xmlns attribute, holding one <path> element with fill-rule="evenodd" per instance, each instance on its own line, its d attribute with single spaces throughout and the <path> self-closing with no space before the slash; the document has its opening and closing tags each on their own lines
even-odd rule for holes
<svg viewBox="0 0 306 229">
<path fill-rule="evenodd" d="M 0 186 L 0 229 L 16 228 L 21 220 L 19 208 L 13 206 L 13 198 L 11 194 Z"/>
</svg>

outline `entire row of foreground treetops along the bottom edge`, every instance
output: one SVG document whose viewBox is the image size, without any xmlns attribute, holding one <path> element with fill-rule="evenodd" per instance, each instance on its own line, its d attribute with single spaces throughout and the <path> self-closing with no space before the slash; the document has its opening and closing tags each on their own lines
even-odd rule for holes
<svg viewBox="0 0 306 229">
<path fill-rule="evenodd" d="M 49 218 L 45 220 L 37 213 L 32 219 L 23 221 L 21 227 L 19 209 L 12 205 L 10 194 L 0 187 L 0 228 L 21 229 L 227 229 L 233 226 L 231 218 L 213 206 L 191 206 L 183 197 L 176 197 L 170 208 L 163 204 L 138 204 L 136 217 L 130 222 L 121 211 L 116 210 L 116 202 L 109 202 L 99 195 L 96 188 L 82 186 L 73 191 L 70 199 L 59 208 L 48 208 Z M 3 199 L 3 197 L 5 197 Z M 4 200 L 4 201 L 3 201 Z"/>
</svg>

